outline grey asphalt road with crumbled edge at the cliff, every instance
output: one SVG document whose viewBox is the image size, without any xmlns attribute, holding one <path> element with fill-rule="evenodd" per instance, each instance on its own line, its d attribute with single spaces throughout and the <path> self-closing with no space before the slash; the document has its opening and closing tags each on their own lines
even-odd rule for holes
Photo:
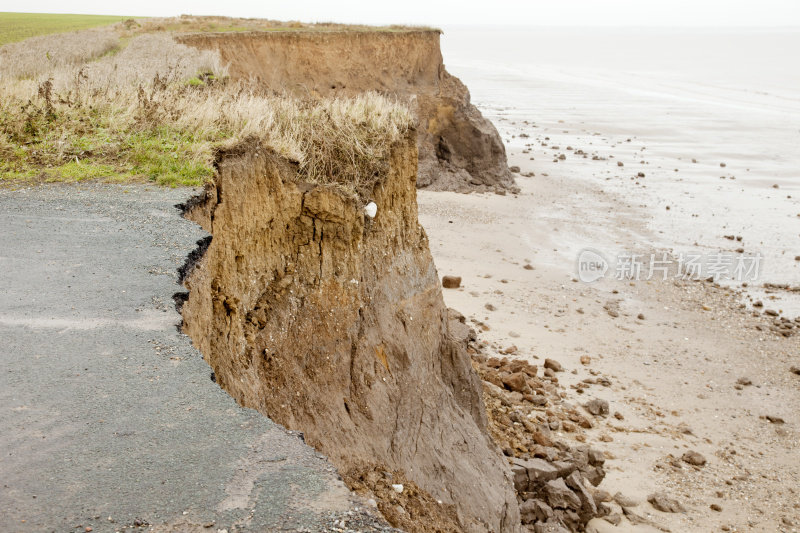
<svg viewBox="0 0 800 533">
<path fill-rule="evenodd" d="M 0 531 L 384 530 L 178 332 L 192 193 L 0 190 Z"/>
</svg>

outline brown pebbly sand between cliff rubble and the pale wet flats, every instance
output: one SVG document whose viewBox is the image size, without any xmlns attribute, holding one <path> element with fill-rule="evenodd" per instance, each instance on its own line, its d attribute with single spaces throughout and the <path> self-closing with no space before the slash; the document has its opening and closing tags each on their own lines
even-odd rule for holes
<svg viewBox="0 0 800 533">
<path fill-rule="evenodd" d="M 566 402 L 600 398 L 620 413 L 595 417 L 586 443 L 610 458 L 599 488 L 638 502 L 629 510 L 643 520 L 634 525 L 637 518 L 628 516 L 609 531 L 779 529 L 787 527 L 784 517 L 800 524 L 793 508 L 800 378 L 790 371 L 800 335 L 769 331 L 771 317 L 753 316 L 738 291 L 708 282 L 578 281 L 563 251 L 570 242 L 591 233 L 622 248 L 640 246 L 651 236 L 646 217 L 585 179 L 544 176 L 520 149 L 509 150 L 509 164 L 537 174 L 518 176 L 519 195 L 419 191 L 420 221 L 440 276 L 464 280 L 461 289 L 444 291 L 447 305 L 473 327 L 486 326 L 480 338 L 490 355 L 514 345 L 531 363 L 556 359 L 567 370 Z M 587 217 L 601 221 L 600 229 L 587 231 Z M 558 244 L 561 236 L 567 244 Z M 611 386 L 592 384 L 595 375 Z M 557 436 L 571 444 L 574 437 Z M 689 450 L 707 465 L 682 462 Z M 654 510 L 646 499 L 659 491 L 689 511 Z M 605 520 L 594 525 L 611 527 Z"/>
</svg>

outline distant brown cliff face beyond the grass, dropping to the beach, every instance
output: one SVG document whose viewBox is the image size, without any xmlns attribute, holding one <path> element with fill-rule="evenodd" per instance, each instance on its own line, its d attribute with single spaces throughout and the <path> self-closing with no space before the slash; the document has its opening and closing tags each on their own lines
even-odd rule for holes
<svg viewBox="0 0 800 533">
<path fill-rule="evenodd" d="M 206 33 L 176 39 L 218 51 L 233 78 L 254 78 L 279 93 L 395 95 L 419 119 L 418 187 L 516 190 L 497 130 L 444 68 L 438 31 Z"/>
</svg>

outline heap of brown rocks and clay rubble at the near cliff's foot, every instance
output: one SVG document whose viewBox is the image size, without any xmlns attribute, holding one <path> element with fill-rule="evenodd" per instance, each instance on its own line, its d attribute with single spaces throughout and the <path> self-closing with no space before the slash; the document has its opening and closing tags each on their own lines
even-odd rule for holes
<svg viewBox="0 0 800 533">
<path fill-rule="evenodd" d="M 540 377 L 537 366 L 486 357 L 475 342 L 470 352 L 483 379 L 489 432 L 514 473 L 523 524 L 536 532 L 583 531 L 589 520 L 607 514 L 603 502 L 611 497 L 594 488 L 605 477 L 603 452 L 554 439 L 553 432 L 561 430 L 574 432 L 580 441 L 581 429 L 593 426 L 564 401 L 556 376 L 561 365 L 547 359 Z"/>
</svg>

